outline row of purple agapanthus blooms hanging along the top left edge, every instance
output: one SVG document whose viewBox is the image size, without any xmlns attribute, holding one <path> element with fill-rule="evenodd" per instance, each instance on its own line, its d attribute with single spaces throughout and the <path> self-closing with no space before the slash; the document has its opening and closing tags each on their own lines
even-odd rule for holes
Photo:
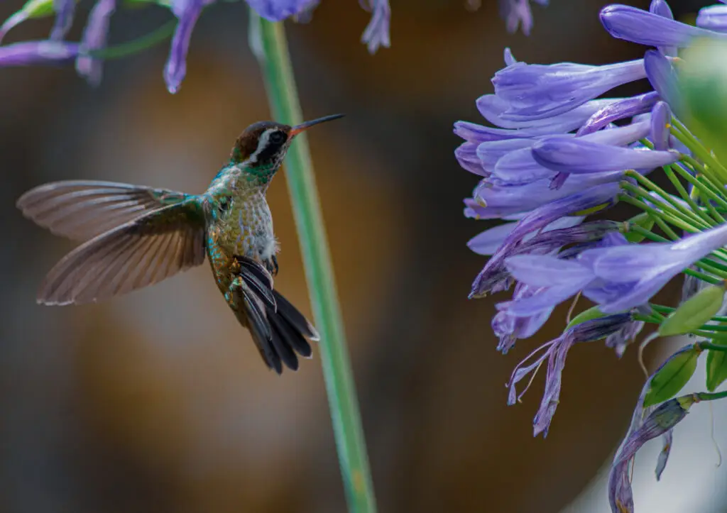
<svg viewBox="0 0 727 513">
<path fill-rule="evenodd" d="M 135 0 L 132 4 L 140 1 Z M 151 0 L 169 8 L 176 18 L 176 26 L 164 66 L 164 81 L 169 92 L 177 92 L 186 74 L 187 52 L 194 26 L 203 10 L 216 0 Z M 229 0 L 228 0 L 229 1 Z M 251 9 L 266 20 L 277 22 L 310 16 L 320 0 L 245 0 Z M 353 1 L 353 0 L 349 0 Z M 369 52 L 379 47 L 389 47 L 390 7 L 388 0 L 359 0 L 361 7 L 371 12 L 371 21 L 361 41 Z M 0 27 L 0 39 L 13 27 L 25 20 L 55 13 L 55 23 L 49 39 L 24 41 L 0 47 L 0 66 L 32 65 L 43 63 L 76 62 L 76 70 L 92 84 L 101 79 L 103 59 L 94 57 L 106 47 L 109 25 L 116 9 L 124 7 L 118 0 L 97 0 L 89 13 L 81 42 L 65 41 L 73 23 L 76 0 L 28 0 L 23 9 L 16 12 Z"/>
</svg>

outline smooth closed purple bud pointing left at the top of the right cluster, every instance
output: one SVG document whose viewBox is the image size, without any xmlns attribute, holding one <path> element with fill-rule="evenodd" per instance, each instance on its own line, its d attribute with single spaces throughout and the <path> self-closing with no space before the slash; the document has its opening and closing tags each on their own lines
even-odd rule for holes
<svg viewBox="0 0 727 513">
<path fill-rule="evenodd" d="M 619 4 L 601 9 L 601 23 L 611 36 L 649 47 L 684 48 L 695 38 L 723 37 L 718 32 Z"/>
</svg>

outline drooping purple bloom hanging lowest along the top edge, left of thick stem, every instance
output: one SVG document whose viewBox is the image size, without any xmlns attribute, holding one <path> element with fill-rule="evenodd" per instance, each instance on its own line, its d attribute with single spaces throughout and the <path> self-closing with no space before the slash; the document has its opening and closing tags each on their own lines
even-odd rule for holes
<svg viewBox="0 0 727 513">
<path fill-rule="evenodd" d="M 265 2 L 265 4 L 267 3 Z M 177 29 L 172 38 L 169 58 L 164 66 L 164 81 L 166 88 L 172 94 L 179 90 L 180 84 L 187 74 L 189 42 L 204 5 L 205 0 L 172 0 L 172 12 L 179 18 L 179 23 L 177 23 Z"/>
</svg>

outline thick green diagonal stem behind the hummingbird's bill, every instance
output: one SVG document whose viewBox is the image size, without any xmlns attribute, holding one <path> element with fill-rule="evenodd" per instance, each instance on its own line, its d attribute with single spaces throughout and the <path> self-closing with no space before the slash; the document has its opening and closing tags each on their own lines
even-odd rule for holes
<svg viewBox="0 0 727 513">
<path fill-rule="evenodd" d="M 300 124 L 303 119 L 283 25 L 262 20 L 252 10 L 250 16 L 251 34 L 259 37 L 258 41 L 253 41 L 252 49 L 257 50 L 265 76 L 270 110 L 278 121 Z M 285 167 L 310 302 L 321 332 L 321 363 L 348 509 L 356 513 L 374 513 L 374 486 L 366 456 L 364 429 L 305 134 L 291 146 Z"/>
</svg>

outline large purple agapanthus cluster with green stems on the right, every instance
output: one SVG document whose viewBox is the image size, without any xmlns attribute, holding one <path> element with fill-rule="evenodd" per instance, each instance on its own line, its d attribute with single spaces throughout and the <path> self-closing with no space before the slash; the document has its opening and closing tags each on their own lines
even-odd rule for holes
<svg viewBox="0 0 727 513">
<path fill-rule="evenodd" d="M 489 125 L 458 121 L 454 132 L 465 142 L 455 155 L 479 177 L 465 216 L 505 220 L 468 244 L 489 256 L 470 298 L 514 285 L 492 320 L 498 350 L 534 336 L 555 307 L 570 305 L 563 334 L 531 352 L 508 384 L 513 404 L 545 364 L 535 435 L 547 435 L 566 356 L 580 343 L 605 340 L 621 356 L 648 324 L 656 328 L 651 338 L 689 334 L 701 341 L 646 381 L 611 470 L 611 506 L 624 513 L 633 511 L 627 469 L 635 451 L 664 435 L 660 475 L 672 427 L 693 403 L 723 397 L 673 398 L 699 356 L 707 354 L 710 392 L 727 379 L 727 317 L 718 315 L 727 280 L 727 167 L 690 130 L 686 57 L 678 56 L 696 40 L 727 39 L 727 6 L 702 9 L 691 26 L 674 20 L 664 0 L 653 0 L 648 11 L 614 4 L 601 10 L 601 23 L 611 36 L 650 48 L 643 58 L 608 65 L 529 64 L 506 50 L 494 94 L 477 100 Z M 608 95 L 644 78 L 646 93 Z M 632 217 L 603 220 L 616 203 L 627 203 Z M 678 275 L 688 278 L 681 302 L 654 302 Z M 572 315 L 586 299 L 594 306 Z"/>
</svg>

